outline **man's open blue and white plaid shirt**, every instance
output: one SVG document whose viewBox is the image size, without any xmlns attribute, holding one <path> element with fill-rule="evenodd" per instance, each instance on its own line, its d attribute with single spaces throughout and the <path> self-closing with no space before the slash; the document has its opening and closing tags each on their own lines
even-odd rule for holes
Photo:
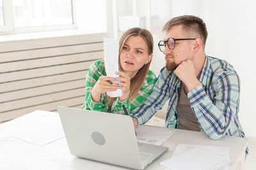
<svg viewBox="0 0 256 170">
<path fill-rule="evenodd" d="M 234 67 L 225 60 L 206 56 L 199 81 L 200 85 L 188 93 L 188 99 L 200 131 L 211 139 L 220 139 L 223 135 L 244 137 L 237 117 L 240 80 Z M 170 99 L 165 125 L 177 128 L 179 87 L 179 78 L 163 67 L 150 96 L 130 115 L 137 118 L 138 124 L 145 124 Z"/>
</svg>

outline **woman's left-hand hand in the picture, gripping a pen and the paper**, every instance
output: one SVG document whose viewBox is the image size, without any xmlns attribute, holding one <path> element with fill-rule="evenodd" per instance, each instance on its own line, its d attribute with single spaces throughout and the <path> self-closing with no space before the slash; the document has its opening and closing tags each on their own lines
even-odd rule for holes
<svg viewBox="0 0 256 170">
<path fill-rule="evenodd" d="M 113 84 L 111 85 L 108 80 Z M 118 82 L 115 81 L 115 78 L 110 76 L 100 76 L 97 83 L 95 83 L 92 89 L 92 100 L 96 103 L 100 102 L 100 94 L 104 92 L 113 92 L 118 89 Z"/>
</svg>

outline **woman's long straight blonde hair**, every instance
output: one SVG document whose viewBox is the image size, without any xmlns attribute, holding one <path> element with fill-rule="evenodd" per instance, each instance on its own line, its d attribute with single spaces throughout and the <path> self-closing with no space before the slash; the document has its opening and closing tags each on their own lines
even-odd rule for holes
<svg viewBox="0 0 256 170">
<path fill-rule="evenodd" d="M 119 41 L 119 53 L 121 52 L 125 42 L 130 36 L 140 36 L 141 38 L 143 38 L 148 46 L 148 55 L 152 55 L 153 49 L 154 49 L 154 41 L 153 41 L 152 34 L 147 29 L 141 29 L 139 27 L 134 27 L 124 32 L 124 34 L 122 35 Z M 141 67 L 138 73 L 131 79 L 129 102 L 131 102 L 138 94 L 141 88 L 141 85 L 143 84 L 145 77 L 147 76 L 150 63 L 151 63 L 151 60 L 147 64 L 145 64 L 143 67 Z M 123 71 L 120 64 L 120 58 L 119 58 L 118 64 L 119 64 L 120 71 Z M 109 101 L 109 106 L 112 106 L 116 97 L 107 96 L 107 99 Z"/>
</svg>

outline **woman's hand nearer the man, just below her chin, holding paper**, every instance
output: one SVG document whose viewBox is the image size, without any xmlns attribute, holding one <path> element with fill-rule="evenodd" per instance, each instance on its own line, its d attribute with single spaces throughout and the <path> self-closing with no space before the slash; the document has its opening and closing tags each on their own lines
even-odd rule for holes
<svg viewBox="0 0 256 170">
<path fill-rule="evenodd" d="M 125 101 L 130 95 L 130 77 L 128 74 L 119 71 L 119 82 L 122 90 L 122 96 L 119 97 L 119 101 Z"/>
</svg>

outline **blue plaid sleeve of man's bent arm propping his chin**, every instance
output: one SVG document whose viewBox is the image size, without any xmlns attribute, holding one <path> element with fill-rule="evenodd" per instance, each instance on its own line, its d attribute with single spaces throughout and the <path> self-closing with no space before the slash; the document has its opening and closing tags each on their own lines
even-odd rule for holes
<svg viewBox="0 0 256 170">
<path fill-rule="evenodd" d="M 188 93 L 191 108 L 198 124 L 211 139 L 220 139 L 226 133 L 230 136 L 230 127 L 238 122 L 240 81 L 238 75 L 223 73 L 213 84 L 215 97 L 210 99 L 202 84 Z M 213 102 L 212 102 L 213 101 Z"/>
</svg>

